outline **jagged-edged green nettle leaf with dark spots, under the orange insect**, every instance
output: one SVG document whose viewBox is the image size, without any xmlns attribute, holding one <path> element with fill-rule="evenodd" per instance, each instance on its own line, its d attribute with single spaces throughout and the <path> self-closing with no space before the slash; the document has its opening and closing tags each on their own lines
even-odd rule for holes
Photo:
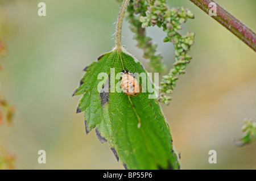
<svg viewBox="0 0 256 181">
<path fill-rule="evenodd" d="M 147 73 L 135 60 L 125 49 L 112 50 L 86 67 L 73 94 L 82 95 L 77 113 L 85 111 L 86 134 L 96 128 L 99 140 L 109 142 L 125 169 L 179 169 L 170 127 L 157 99 L 148 98 L 154 93 L 146 90 L 132 97 L 123 91 L 113 92 L 113 85 L 118 86 L 121 81 L 116 76 L 122 70 Z M 114 74 L 110 73 L 113 68 Z M 100 73 L 106 76 L 98 76 Z"/>
</svg>

